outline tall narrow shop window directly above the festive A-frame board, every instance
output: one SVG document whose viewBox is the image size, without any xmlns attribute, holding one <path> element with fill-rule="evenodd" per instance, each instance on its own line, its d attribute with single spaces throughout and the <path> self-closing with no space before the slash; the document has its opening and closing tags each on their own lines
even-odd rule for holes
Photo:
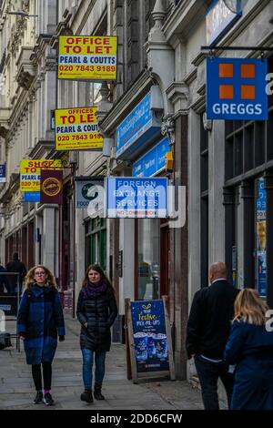
<svg viewBox="0 0 273 428">
<path fill-rule="evenodd" d="M 138 220 L 137 299 L 160 297 L 160 220 Z"/>
</svg>

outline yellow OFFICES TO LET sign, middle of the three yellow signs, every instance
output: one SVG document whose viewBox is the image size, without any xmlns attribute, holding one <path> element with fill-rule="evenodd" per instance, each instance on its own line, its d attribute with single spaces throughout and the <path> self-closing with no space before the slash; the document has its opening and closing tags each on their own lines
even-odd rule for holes
<svg viewBox="0 0 273 428">
<path fill-rule="evenodd" d="M 100 150 L 103 138 L 98 131 L 96 107 L 55 110 L 56 150 Z"/>
</svg>

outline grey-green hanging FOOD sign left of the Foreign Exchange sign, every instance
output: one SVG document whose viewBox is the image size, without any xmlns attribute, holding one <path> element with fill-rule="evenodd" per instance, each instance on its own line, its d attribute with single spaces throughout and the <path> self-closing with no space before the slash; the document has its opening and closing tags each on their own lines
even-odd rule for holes
<svg viewBox="0 0 273 428">
<path fill-rule="evenodd" d="M 104 208 L 104 178 L 89 177 L 87 180 L 76 178 L 76 208 L 94 209 L 95 212 Z"/>
</svg>

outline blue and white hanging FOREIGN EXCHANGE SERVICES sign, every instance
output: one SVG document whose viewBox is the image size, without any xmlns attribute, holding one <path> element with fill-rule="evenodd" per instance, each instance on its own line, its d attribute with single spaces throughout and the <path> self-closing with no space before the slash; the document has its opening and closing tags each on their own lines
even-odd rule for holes
<svg viewBox="0 0 273 428">
<path fill-rule="evenodd" d="M 106 178 L 106 217 L 167 217 L 167 178 Z"/>
</svg>

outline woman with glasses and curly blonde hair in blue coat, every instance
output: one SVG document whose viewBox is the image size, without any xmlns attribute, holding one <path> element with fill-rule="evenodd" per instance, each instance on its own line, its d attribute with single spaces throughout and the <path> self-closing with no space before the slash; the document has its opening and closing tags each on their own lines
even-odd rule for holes
<svg viewBox="0 0 273 428">
<path fill-rule="evenodd" d="M 65 340 L 65 322 L 56 280 L 45 266 L 35 266 L 25 277 L 23 294 L 17 317 L 17 331 L 24 341 L 26 363 L 32 365 L 36 396 L 34 403 L 53 405 L 50 394 L 52 362 L 56 352 L 57 335 Z M 44 399 L 42 391 L 43 365 Z"/>
</svg>

